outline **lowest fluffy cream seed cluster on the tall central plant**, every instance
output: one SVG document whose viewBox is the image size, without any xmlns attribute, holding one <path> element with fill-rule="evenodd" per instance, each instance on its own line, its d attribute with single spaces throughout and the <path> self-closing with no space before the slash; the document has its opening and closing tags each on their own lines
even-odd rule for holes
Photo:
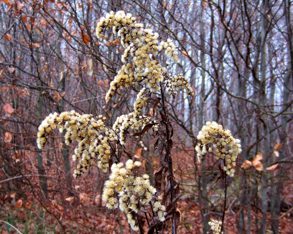
<svg viewBox="0 0 293 234">
<path fill-rule="evenodd" d="M 142 206 L 147 205 L 156 193 L 156 189 L 150 185 L 149 176 L 144 174 L 137 176 L 137 170 L 141 162 L 129 159 L 125 163 L 113 164 L 110 180 L 104 185 L 103 200 L 107 202 L 108 209 L 118 207 L 127 214 L 127 220 L 133 230 L 139 230 L 138 213 Z M 118 200 L 115 197 L 118 197 Z M 166 208 L 160 202 L 154 202 L 154 209 L 160 221 L 165 220 Z"/>
</svg>

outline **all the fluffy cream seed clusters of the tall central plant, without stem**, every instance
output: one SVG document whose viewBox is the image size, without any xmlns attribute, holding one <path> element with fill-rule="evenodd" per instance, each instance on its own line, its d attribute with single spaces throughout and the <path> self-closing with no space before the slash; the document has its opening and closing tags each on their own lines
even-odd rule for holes
<svg viewBox="0 0 293 234">
<path fill-rule="evenodd" d="M 157 197 L 156 189 L 150 185 L 149 176 L 147 174 L 142 177 L 137 176 L 141 162 L 128 160 L 124 166 L 120 162 L 118 149 L 125 148 L 126 138 L 132 137 L 139 147 L 147 150 L 138 136 L 146 133 L 150 128 L 158 132 L 160 123 L 156 120 L 158 117 L 143 113 L 143 109 L 149 103 L 155 108 L 154 102 L 156 101 L 156 105 L 160 102 L 159 98 L 153 99 L 151 93 L 161 91 L 161 95 L 164 95 L 164 85 L 173 98 L 180 89 L 185 89 L 187 95 L 193 95 L 193 92 L 188 80 L 182 74 L 175 77 L 169 75 L 155 57 L 164 51 L 171 61 L 179 63 L 178 50 L 171 39 L 161 42 L 159 46 L 158 33 L 145 29 L 143 24 L 137 23 L 136 18 L 131 14 L 125 14 L 124 11 L 117 13 L 111 11 L 101 18 L 96 27 L 96 36 L 102 38 L 109 29 L 120 37 L 121 45 L 125 49 L 121 60 L 125 64 L 110 83 L 105 99 L 109 100 L 117 89 L 125 89 L 139 83 L 145 83 L 149 91 L 142 88 L 137 94 L 133 111 L 118 116 L 112 128 L 106 123 L 103 115 L 94 118 L 93 115 L 80 115 L 75 111 L 50 114 L 38 128 L 37 143 L 42 149 L 49 134 L 56 128 L 60 132 L 66 131 L 64 137 L 67 145 L 76 140 L 78 146 L 74 149 L 72 160 L 79 159 L 79 164 L 74 170 L 74 178 L 81 176 L 95 163 L 106 172 L 109 168 L 109 160 L 115 157 L 118 162 L 111 166 L 109 180 L 104 185 L 103 200 L 107 202 L 108 209 L 117 208 L 119 205 L 119 208 L 127 214 L 132 229 L 138 230 L 141 220 L 138 214 L 144 206 L 151 203 L 152 211 L 161 222 L 165 221 L 166 208 L 160 204 L 161 198 Z M 167 61 L 166 65 L 169 64 Z M 139 130 L 145 126 L 146 128 L 137 134 L 129 133 L 130 129 Z"/>
</svg>

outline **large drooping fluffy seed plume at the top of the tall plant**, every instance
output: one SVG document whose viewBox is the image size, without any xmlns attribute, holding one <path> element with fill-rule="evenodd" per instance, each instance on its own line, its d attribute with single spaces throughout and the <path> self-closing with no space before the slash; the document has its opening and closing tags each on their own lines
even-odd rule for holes
<svg viewBox="0 0 293 234">
<path fill-rule="evenodd" d="M 132 56 L 133 66 L 130 63 L 122 66 L 110 83 L 105 99 L 110 99 L 118 88 L 124 89 L 142 81 L 147 84 L 151 92 L 159 91 L 158 84 L 163 79 L 166 68 L 161 66 L 154 55 L 165 50 L 171 61 L 178 63 L 178 50 L 172 40 L 168 39 L 167 42 L 162 42 L 159 47 L 159 34 L 151 29 L 143 28 L 143 24 L 137 23 L 135 17 L 129 13 L 125 14 L 124 11 L 117 13 L 111 11 L 102 17 L 96 27 L 96 36 L 102 38 L 105 31 L 110 28 L 114 34 L 120 37 L 120 42 L 125 49 L 121 61 L 127 63 L 129 57 Z"/>
</svg>

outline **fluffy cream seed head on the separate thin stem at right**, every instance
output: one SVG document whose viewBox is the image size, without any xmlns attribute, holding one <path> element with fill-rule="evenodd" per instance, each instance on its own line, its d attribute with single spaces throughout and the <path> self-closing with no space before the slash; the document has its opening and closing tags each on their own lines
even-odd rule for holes
<svg viewBox="0 0 293 234">
<path fill-rule="evenodd" d="M 195 147 L 197 158 L 200 163 L 205 159 L 207 152 L 216 150 L 216 159 L 222 159 L 226 166 L 224 171 L 228 176 L 234 176 L 234 166 L 236 166 L 237 155 L 241 153 L 239 139 L 231 136 L 230 130 L 225 130 L 217 122 L 207 122 L 197 135 L 198 144 Z"/>
</svg>

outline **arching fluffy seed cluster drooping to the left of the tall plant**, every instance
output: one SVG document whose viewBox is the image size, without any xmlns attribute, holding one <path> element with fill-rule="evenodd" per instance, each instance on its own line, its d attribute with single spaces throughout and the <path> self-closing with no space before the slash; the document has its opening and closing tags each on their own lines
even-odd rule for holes
<svg viewBox="0 0 293 234">
<path fill-rule="evenodd" d="M 105 124 L 105 120 L 103 115 L 95 119 L 93 115 L 80 115 L 75 111 L 50 114 L 38 128 L 38 147 L 44 147 L 53 129 L 59 128 L 60 132 L 66 130 L 65 144 L 69 145 L 73 140 L 79 142 L 72 155 L 72 161 L 79 159 L 79 164 L 74 170 L 74 178 L 87 171 L 95 164 L 95 160 L 98 167 L 106 172 L 109 159 L 115 154 L 115 141 L 118 140 L 118 136 Z"/>
</svg>

